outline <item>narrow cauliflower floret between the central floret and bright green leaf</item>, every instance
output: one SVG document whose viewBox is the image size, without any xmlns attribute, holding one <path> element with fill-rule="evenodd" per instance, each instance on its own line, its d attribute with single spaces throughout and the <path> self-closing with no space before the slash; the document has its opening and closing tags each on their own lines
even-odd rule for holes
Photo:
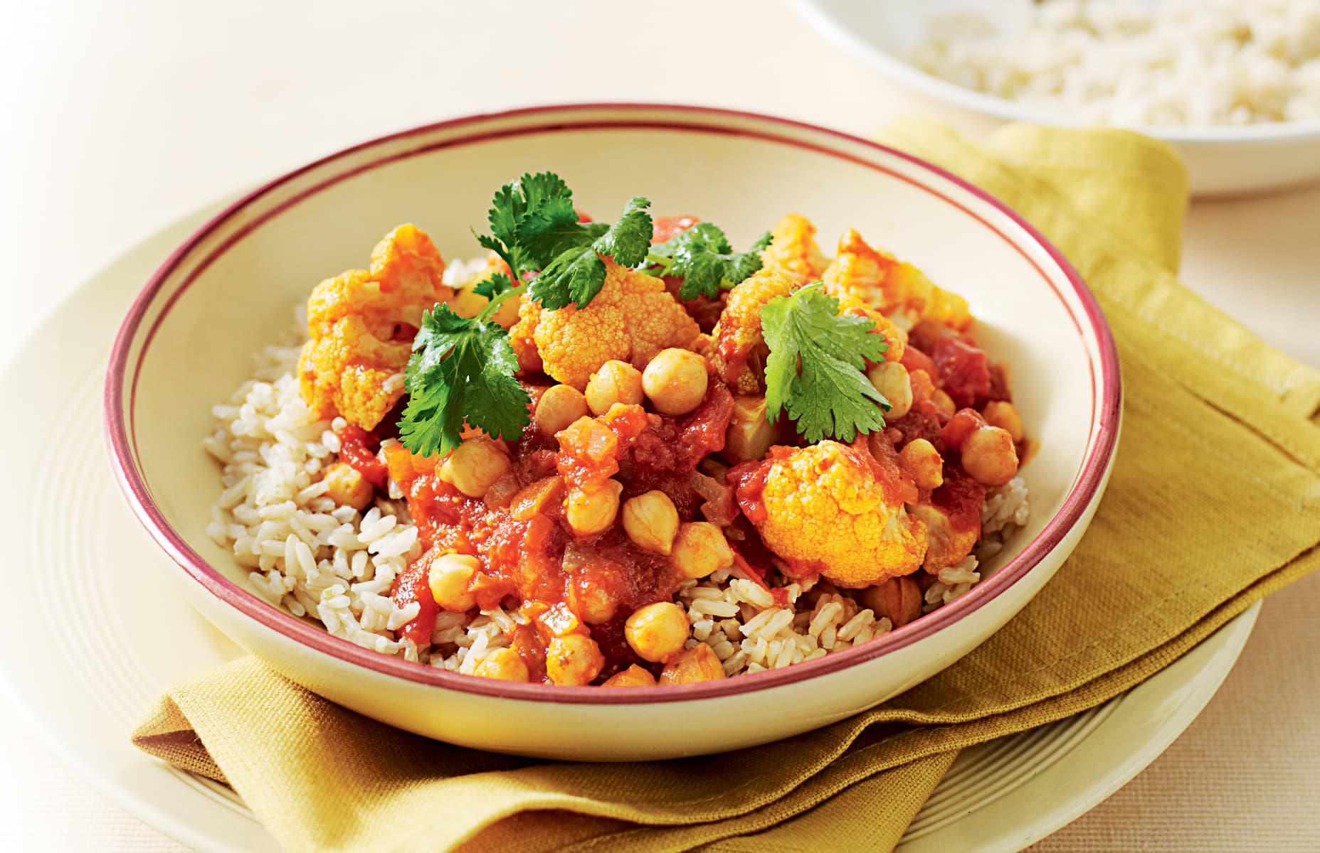
<svg viewBox="0 0 1320 853">
<path fill-rule="evenodd" d="M 734 394 L 758 394 L 766 364 L 766 336 L 760 310 L 776 297 L 787 297 L 797 279 L 775 270 L 760 270 L 733 290 L 715 324 L 715 372 Z"/>
</svg>

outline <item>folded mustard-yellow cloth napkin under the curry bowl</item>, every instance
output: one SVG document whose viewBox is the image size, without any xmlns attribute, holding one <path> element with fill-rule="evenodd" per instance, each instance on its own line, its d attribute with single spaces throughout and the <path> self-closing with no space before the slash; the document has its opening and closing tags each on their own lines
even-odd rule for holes
<svg viewBox="0 0 1320 853">
<path fill-rule="evenodd" d="M 133 742 L 234 786 L 289 849 L 890 849 L 960 749 L 1104 703 L 1316 567 L 1320 372 L 1175 279 L 1187 182 L 1171 149 L 1039 127 L 978 148 L 924 120 L 883 138 L 1040 228 L 1118 341 L 1126 414 L 1109 492 L 1003 630 L 879 708 L 705 758 L 478 753 L 358 716 L 251 658 L 170 690 Z"/>
</svg>

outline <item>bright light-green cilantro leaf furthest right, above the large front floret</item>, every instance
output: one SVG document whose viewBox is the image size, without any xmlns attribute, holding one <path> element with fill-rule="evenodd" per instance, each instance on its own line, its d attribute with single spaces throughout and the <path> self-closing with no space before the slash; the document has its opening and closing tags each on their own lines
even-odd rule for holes
<svg viewBox="0 0 1320 853">
<path fill-rule="evenodd" d="M 826 435 L 851 442 L 858 432 L 884 427 L 880 406 L 888 401 L 863 373 L 866 361 L 882 361 L 888 344 L 871 335 L 875 322 L 838 316 L 838 299 L 817 282 L 776 297 L 760 311 L 770 345 L 766 360 L 766 417 L 780 410 L 808 442 Z"/>
</svg>

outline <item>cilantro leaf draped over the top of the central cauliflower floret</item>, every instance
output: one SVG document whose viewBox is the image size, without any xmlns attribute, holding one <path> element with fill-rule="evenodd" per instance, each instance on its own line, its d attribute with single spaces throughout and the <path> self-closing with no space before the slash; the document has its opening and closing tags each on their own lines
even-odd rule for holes
<svg viewBox="0 0 1320 853">
<path fill-rule="evenodd" d="M 553 253 L 541 273 L 527 286 L 527 298 L 540 302 L 548 310 L 558 310 L 570 302 L 585 309 L 605 286 L 602 254 L 614 257 L 620 266 L 638 266 L 651 248 L 651 202 L 642 196 L 628 199 L 619 221 L 603 232 L 603 223 L 546 221 L 528 219 L 520 232 L 528 250 L 537 257 Z M 590 236 L 590 239 L 587 239 Z"/>
</svg>

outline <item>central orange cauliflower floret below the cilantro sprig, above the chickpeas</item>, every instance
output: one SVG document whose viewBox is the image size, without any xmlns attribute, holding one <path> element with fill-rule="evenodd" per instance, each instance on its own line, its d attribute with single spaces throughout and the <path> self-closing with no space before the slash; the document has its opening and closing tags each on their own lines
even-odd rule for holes
<svg viewBox="0 0 1320 853">
<path fill-rule="evenodd" d="M 611 359 L 640 370 L 661 349 L 693 347 L 701 328 L 663 281 L 610 258 L 605 269 L 605 286 L 585 309 L 569 305 L 548 311 L 523 301 L 510 339 L 524 370 L 544 370 L 582 390 Z"/>
</svg>

